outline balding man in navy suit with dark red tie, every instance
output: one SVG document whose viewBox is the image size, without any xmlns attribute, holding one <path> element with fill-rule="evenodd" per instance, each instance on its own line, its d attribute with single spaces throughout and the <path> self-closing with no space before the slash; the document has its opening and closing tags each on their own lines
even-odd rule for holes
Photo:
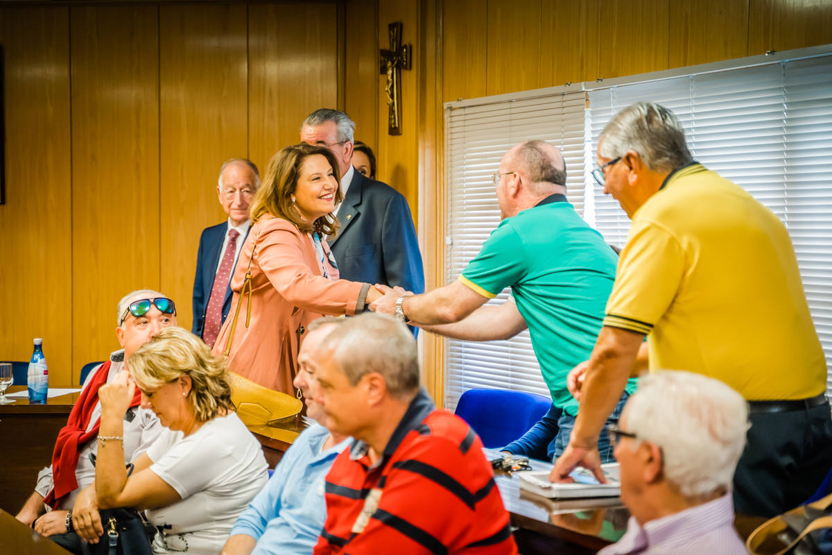
<svg viewBox="0 0 832 555">
<path fill-rule="evenodd" d="M 220 270 L 220 260 L 225 255 L 228 244 L 229 232 L 234 229 L 240 235 L 236 238 L 234 264 L 231 266 L 231 275 L 234 275 L 237 257 L 240 255 L 240 248 L 249 234 L 251 222 L 249 221 L 249 203 L 254 197 L 257 187 L 260 186 L 260 172 L 254 162 L 244 158 L 232 158 L 226 161 L 220 168 L 220 179 L 216 187 L 216 195 L 228 221 L 218 225 L 212 225 L 202 230 L 200 236 L 200 248 L 196 254 L 196 275 L 194 276 L 194 299 L 193 310 L 194 320 L 191 326 L 191 333 L 204 337 L 206 331 L 206 310 L 210 301 L 211 290 L 214 288 L 214 279 L 217 271 Z M 230 281 L 229 281 L 230 283 Z M 220 293 L 223 294 L 223 293 Z M 225 286 L 224 299 L 222 300 L 222 313 L 219 325 L 225 321 L 231 307 L 231 288 Z M 216 323 L 209 328 L 213 329 Z M 219 332 L 219 328 L 215 328 Z M 209 337 L 210 343 L 213 339 Z"/>
</svg>

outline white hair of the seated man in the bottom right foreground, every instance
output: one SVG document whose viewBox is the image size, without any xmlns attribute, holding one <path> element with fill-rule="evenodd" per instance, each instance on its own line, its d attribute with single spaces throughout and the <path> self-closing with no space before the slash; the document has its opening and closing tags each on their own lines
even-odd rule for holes
<svg viewBox="0 0 832 555">
<path fill-rule="evenodd" d="M 749 424 L 748 404 L 728 385 L 678 370 L 647 375 L 625 420 L 627 432 L 661 448 L 665 476 L 682 495 L 731 489 Z"/>
</svg>

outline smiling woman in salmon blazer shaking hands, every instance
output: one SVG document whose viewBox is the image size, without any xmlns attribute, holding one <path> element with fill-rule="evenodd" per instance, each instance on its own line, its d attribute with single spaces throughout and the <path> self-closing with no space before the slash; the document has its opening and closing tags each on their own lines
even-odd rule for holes
<svg viewBox="0 0 832 555">
<path fill-rule="evenodd" d="M 323 146 L 287 146 L 269 162 L 249 208 L 252 226 L 231 277 L 231 310 L 214 344 L 228 369 L 295 395 L 292 379 L 305 326 L 355 315 L 381 293 L 338 279 L 325 237 L 338 229 L 338 162 Z"/>
</svg>

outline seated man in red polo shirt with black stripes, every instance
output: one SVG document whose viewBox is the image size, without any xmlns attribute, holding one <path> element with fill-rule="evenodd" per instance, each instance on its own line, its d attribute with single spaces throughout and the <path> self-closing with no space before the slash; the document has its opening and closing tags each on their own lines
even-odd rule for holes
<svg viewBox="0 0 832 555">
<path fill-rule="evenodd" d="M 313 365 L 330 431 L 355 439 L 326 477 L 315 555 L 518 553 L 483 444 L 419 388 L 407 327 L 349 319 Z"/>
</svg>

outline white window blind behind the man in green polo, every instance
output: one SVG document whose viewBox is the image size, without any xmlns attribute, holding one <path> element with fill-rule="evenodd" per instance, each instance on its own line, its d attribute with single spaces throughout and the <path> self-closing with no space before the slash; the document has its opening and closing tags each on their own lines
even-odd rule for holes
<svg viewBox="0 0 832 555">
<path fill-rule="evenodd" d="M 448 283 L 457 279 L 500 222 L 491 176 L 498 171 L 503 154 L 518 142 L 540 139 L 562 151 L 567 198 L 582 213 L 584 108 L 584 93 L 578 91 L 547 97 L 514 95 L 446 109 Z M 508 292 L 489 304 L 506 302 Z M 520 389 L 548 396 L 527 332 L 506 341 L 448 339 L 445 357 L 445 407 L 449 410 L 456 408 L 465 390 L 473 388 Z"/>
</svg>

